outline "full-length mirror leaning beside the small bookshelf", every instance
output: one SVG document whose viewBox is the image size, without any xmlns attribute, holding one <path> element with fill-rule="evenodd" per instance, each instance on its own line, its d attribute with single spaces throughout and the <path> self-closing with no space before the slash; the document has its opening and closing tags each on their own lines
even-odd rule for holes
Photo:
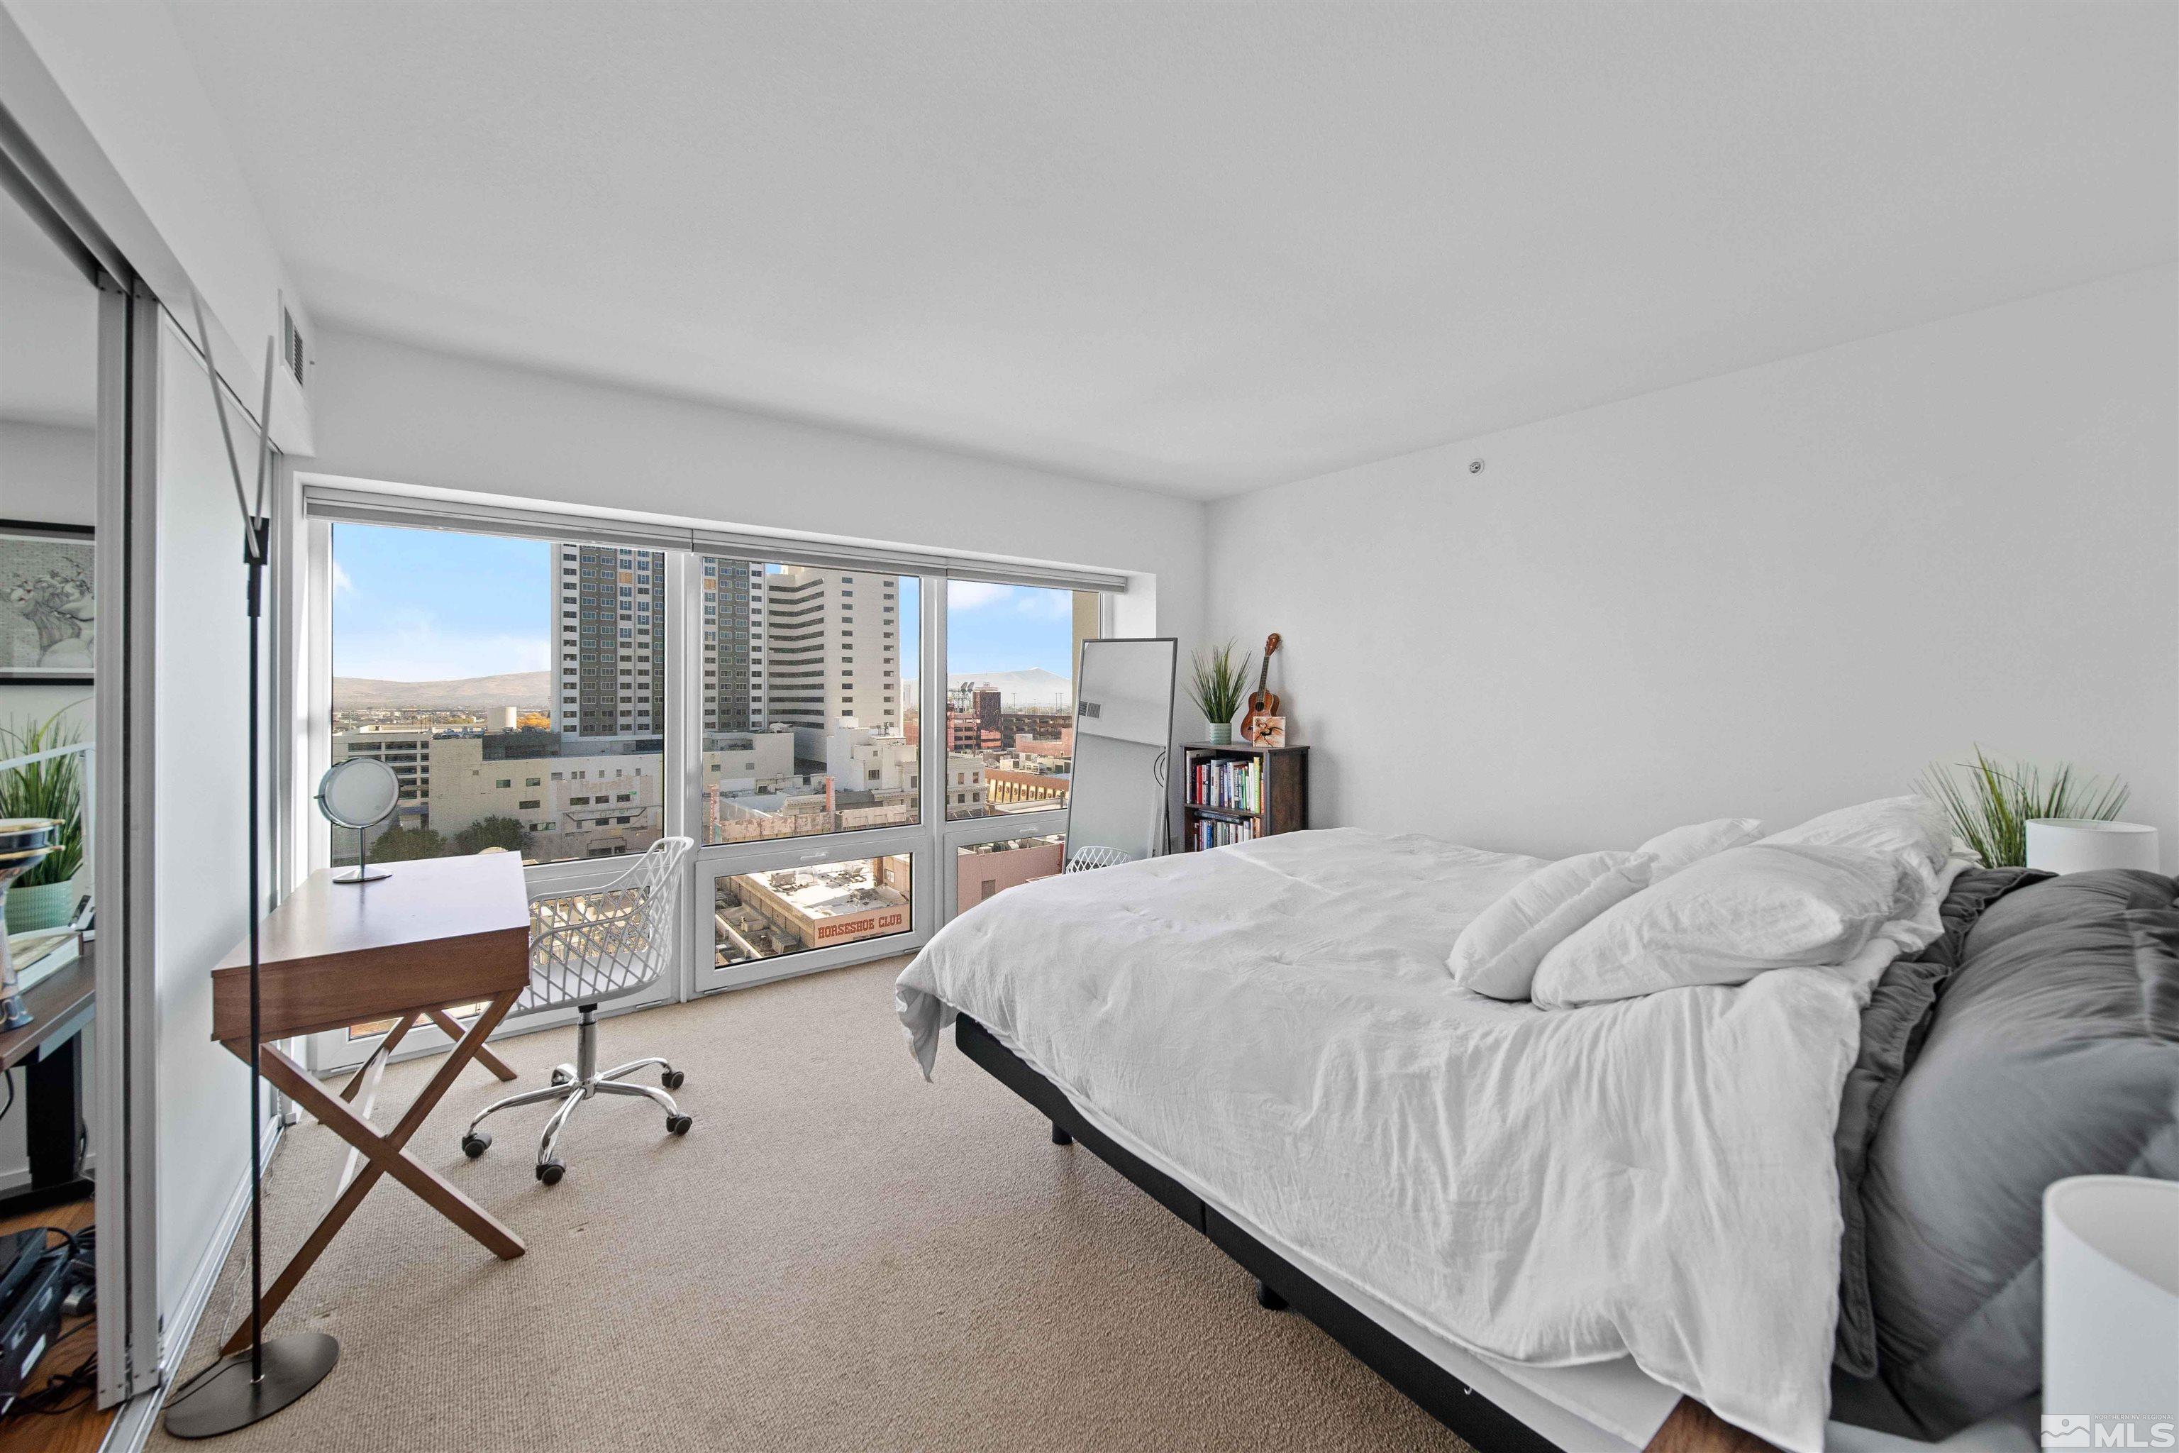
<svg viewBox="0 0 2179 1453">
<path fill-rule="evenodd" d="M 1166 850 L 1166 765 L 1179 643 L 1083 640 L 1074 699 L 1068 871 Z"/>
</svg>

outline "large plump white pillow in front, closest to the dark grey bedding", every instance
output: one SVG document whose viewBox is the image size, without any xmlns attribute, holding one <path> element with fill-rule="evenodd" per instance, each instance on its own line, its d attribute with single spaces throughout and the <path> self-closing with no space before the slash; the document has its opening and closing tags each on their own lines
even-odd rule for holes
<svg viewBox="0 0 2179 1453">
<path fill-rule="evenodd" d="M 1750 843 L 1606 911 L 1536 965 L 1545 1009 L 1739 985 L 1852 959 L 1900 913 L 1900 863 L 1865 847 Z M 1913 893 L 1909 893 L 1913 895 Z"/>
</svg>

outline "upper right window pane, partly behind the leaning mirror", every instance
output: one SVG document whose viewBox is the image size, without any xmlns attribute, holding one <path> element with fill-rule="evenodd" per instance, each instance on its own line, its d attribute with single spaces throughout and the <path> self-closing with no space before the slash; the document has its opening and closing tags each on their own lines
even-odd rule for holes
<svg viewBox="0 0 2179 1453">
<path fill-rule="evenodd" d="M 1094 590 L 946 588 L 946 817 L 1046 813 L 1068 802 L 1074 662 L 1098 634 Z"/>
</svg>

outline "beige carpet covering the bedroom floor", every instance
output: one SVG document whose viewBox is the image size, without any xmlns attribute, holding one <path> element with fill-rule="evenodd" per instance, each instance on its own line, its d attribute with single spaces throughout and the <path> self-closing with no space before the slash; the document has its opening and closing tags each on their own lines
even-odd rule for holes
<svg viewBox="0 0 2179 1453">
<path fill-rule="evenodd" d="M 900 961 L 608 1019 L 601 1063 L 689 1072 L 686 1139 L 593 1100 L 567 1179 L 532 1176 L 540 1109 L 471 1067 L 412 1141 L 529 1244 L 516 1261 L 381 1181 L 270 1331 L 340 1366 L 229 1453 L 394 1449 L 1462 1449 L 952 1046 L 926 1085 L 891 1011 Z M 573 1030 L 501 1048 L 538 1085 Z M 436 1061 L 394 1065 L 405 1104 Z M 309 1124 L 268 1179 L 268 1261 L 325 1205 Z M 246 1305 L 229 1261 L 185 1372 Z M 185 1446 L 155 1436 L 161 1446 Z M 196 1446 L 196 1444 L 187 1444 Z"/>
</svg>

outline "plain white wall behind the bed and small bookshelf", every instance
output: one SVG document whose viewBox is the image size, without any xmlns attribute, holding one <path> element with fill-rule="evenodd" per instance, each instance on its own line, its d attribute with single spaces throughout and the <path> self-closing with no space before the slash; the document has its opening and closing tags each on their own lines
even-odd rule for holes
<svg viewBox="0 0 2179 1453">
<path fill-rule="evenodd" d="M 1286 634 L 1316 826 L 1569 854 L 1983 743 L 2125 776 L 2170 871 L 2175 316 L 2162 266 L 1227 499 L 1209 634 Z"/>
</svg>

